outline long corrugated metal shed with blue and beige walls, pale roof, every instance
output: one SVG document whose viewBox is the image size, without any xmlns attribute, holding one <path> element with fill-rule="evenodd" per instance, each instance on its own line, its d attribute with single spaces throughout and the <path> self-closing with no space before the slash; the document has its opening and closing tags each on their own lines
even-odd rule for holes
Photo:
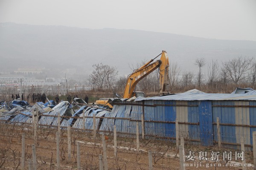
<svg viewBox="0 0 256 170">
<path fill-rule="evenodd" d="M 131 118 L 130 123 L 116 119 L 115 124 L 120 132 L 134 133 L 136 122 L 132 120 L 140 120 L 141 114 L 144 114 L 145 136 L 148 138 L 175 139 L 175 120 L 178 119 L 180 137 L 193 143 L 212 145 L 218 141 L 218 117 L 223 144 L 237 148 L 243 136 L 245 144 L 251 146 L 252 132 L 256 130 L 256 91 L 207 94 L 194 89 L 182 94 L 138 97 L 134 102 L 119 101 L 110 116 Z M 113 123 L 108 127 L 112 126 Z"/>
</svg>

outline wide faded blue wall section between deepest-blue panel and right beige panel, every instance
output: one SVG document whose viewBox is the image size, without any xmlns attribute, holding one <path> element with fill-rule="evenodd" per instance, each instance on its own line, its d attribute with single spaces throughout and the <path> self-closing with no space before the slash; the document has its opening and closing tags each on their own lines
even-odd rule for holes
<svg viewBox="0 0 256 170">
<path fill-rule="evenodd" d="M 232 101 L 213 101 L 212 105 L 234 105 Z M 236 124 L 235 108 L 234 107 L 212 107 L 213 122 L 217 122 L 216 118 L 220 119 L 220 123 Z M 214 127 L 214 139 L 217 140 L 216 125 Z M 220 125 L 221 141 L 236 143 L 236 127 Z"/>
</svg>

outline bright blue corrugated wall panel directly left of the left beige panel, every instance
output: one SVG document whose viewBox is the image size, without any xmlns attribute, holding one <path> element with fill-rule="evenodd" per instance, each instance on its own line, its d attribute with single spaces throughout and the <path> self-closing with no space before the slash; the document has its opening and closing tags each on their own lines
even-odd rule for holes
<svg viewBox="0 0 256 170">
<path fill-rule="evenodd" d="M 163 101 L 166 105 L 175 105 L 175 101 Z M 165 119 L 163 121 L 172 121 L 176 120 L 176 107 L 175 106 L 165 106 L 164 109 Z M 176 130 L 175 124 L 165 123 L 165 136 L 166 137 L 175 137 Z"/>
</svg>

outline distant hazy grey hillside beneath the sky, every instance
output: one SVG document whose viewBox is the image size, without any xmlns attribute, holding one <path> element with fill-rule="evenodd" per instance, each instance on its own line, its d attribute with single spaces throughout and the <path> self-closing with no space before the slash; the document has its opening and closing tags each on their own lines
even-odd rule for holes
<svg viewBox="0 0 256 170">
<path fill-rule="evenodd" d="M 171 62 L 195 69 L 197 57 L 207 61 L 256 56 L 256 42 L 214 40 L 177 34 L 125 29 L 86 29 L 0 23 L 0 70 L 23 66 L 78 68 L 89 74 L 102 62 L 128 74 L 136 65 L 166 50 Z M 79 71 L 78 70 L 78 71 Z"/>
</svg>

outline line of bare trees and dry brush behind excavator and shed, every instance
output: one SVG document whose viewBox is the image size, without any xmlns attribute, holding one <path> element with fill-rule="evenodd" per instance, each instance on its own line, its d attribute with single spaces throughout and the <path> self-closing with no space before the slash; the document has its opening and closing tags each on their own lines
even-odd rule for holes
<svg viewBox="0 0 256 170">
<path fill-rule="evenodd" d="M 198 72 L 196 73 L 182 71 L 177 63 L 170 65 L 168 91 L 177 93 L 196 88 L 205 92 L 229 93 L 235 87 L 255 88 L 255 58 L 240 56 L 225 62 L 218 62 L 213 59 L 210 62 L 206 62 L 205 58 L 197 58 L 193 64 L 198 67 Z M 207 71 L 203 72 L 203 68 L 207 68 Z M 115 67 L 102 63 L 94 64 L 93 69 L 87 82 L 94 91 L 114 90 L 122 94 L 127 77 L 118 76 L 118 71 Z M 131 68 L 131 70 L 134 70 L 134 68 Z M 156 94 L 158 90 L 158 70 L 142 79 L 136 87 L 136 91 L 144 91 L 146 94 Z"/>
</svg>

